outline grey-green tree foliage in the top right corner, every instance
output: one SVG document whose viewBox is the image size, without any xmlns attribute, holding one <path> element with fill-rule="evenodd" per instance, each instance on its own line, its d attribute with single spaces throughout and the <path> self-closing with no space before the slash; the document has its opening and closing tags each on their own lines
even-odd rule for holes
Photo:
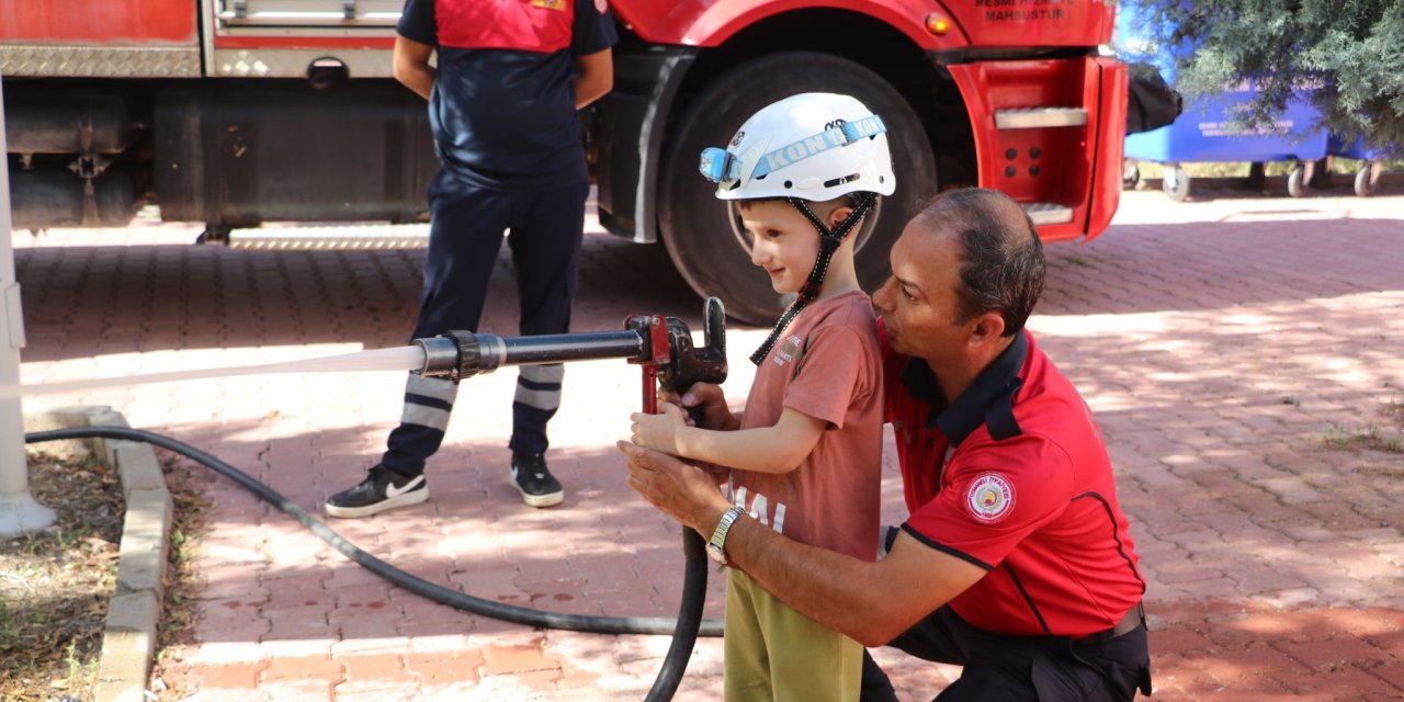
<svg viewBox="0 0 1404 702">
<path fill-rule="evenodd" d="M 1293 91 L 1323 126 L 1404 147 L 1404 0 L 1122 0 L 1134 35 L 1177 55 L 1186 100 L 1248 80 L 1244 126 L 1265 126 Z"/>
</svg>

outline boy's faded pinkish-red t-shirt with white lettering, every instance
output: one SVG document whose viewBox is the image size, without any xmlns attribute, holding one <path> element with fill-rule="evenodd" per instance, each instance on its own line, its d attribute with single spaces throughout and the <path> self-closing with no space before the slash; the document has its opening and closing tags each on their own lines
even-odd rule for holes
<svg viewBox="0 0 1404 702">
<path fill-rule="evenodd" d="M 774 427 L 783 407 L 828 423 L 789 473 L 731 472 L 731 497 L 797 542 L 878 557 L 882 350 L 861 291 L 806 307 L 755 371 L 741 428 Z"/>
</svg>

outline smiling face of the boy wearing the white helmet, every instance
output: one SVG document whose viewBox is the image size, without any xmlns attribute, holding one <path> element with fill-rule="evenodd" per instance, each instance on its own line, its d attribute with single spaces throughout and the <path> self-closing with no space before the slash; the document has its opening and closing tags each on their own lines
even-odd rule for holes
<svg viewBox="0 0 1404 702">
<path fill-rule="evenodd" d="M 819 257 L 814 225 L 783 201 L 751 202 L 739 209 L 741 226 L 751 234 L 751 263 L 769 274 L 775 292 L 799 292 Z"/>
</svg>

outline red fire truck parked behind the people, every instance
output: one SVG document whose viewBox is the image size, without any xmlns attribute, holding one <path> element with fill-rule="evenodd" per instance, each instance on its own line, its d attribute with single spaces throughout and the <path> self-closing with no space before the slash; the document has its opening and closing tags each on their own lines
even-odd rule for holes
<svg viewBox="0 0 1404 702">
<path fill-rule="evenodd" d="M 577 0 L 578 1 L 578 0 Z M 390 79 L 403 0 L 0 3 L 17 227 L 121 226 L 156 202 L 205 239 L 260 222 L 425 215 L 424 102 Z M 783 307 L 698 176 L 760 107 L 848 93 L 887 122 L 897 194 L 859 237 L 876 284 L 938 190 L 1024 202 L 1049 241 L 1116 211 L 1126 67 L 1112 0 L 612 0 L 615 90 L 585 119 L 600 220 L 661 241 L 731 316 Z"/>
</svg>

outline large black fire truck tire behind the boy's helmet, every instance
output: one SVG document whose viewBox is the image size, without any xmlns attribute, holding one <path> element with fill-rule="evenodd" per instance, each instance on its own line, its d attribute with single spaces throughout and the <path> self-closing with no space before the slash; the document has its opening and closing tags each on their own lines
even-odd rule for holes
<svg viewBox="0 0 1404 702">
<path fill-rule="evenodd" d="M 785 52 L 750 60 L 716 77 L 680 114 L 664 147 L 658 225 L 668 256 L 698 295 L 716 295 L 733 319 L 771 324 L 793 295 L 778 295 L 751 264 L 750 243 L 734 204 L 713 197 L 698 174 L 709 146 L 726 146 L 760 108 L 797 93 L 848 94 L 882 115 L 892 145 L 897 191 L 882 199 L 851 236 L 858 278 L 872 292 L 887 275 L 887 254 L 918 204 L 936 192 L 931 142 L 911 105 L 872 70 L 827 53 Z"/>
</svg>

